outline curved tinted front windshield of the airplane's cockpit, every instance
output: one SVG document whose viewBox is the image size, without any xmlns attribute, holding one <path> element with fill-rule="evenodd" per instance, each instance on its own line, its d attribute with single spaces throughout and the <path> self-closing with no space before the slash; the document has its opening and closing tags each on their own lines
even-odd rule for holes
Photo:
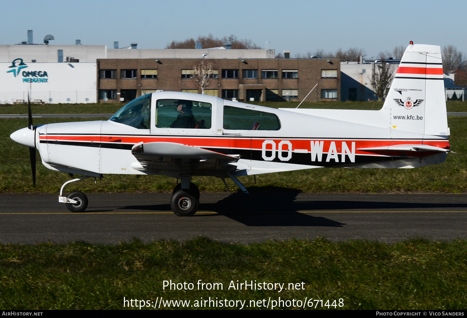
<svg viewBox="0 0 467 318">
<path fill-rule="evenodd" d="M 152 94 L 146 94 L 130 101 L 109 120 L 116 123 L 123 123 L 137 129 L 149 129 L 151 95 Z"/>
</svg>

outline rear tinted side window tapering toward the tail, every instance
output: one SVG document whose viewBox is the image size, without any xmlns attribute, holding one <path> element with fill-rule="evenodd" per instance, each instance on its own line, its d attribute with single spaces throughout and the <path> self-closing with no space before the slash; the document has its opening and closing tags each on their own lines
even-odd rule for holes
<svg viewBox="0 0 467 318">
<path fill-rule="evenodd" d="M 279 130 L 281 122 L 275 114 L 248 108 L 224 106 L 224 129 Z"/>
</svg>

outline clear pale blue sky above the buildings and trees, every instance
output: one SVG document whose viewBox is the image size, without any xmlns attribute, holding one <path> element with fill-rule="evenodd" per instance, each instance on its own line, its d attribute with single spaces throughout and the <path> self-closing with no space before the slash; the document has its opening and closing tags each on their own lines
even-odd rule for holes
<svg viewBox="0 0 467 318">
<path fill-rule="evenodd" d="M 467 53 L 467 2 L 302 0 L 2 0 L 0 44 L 47 34 L 51 44 L 131 42 L 139 49 L 164 48 L 172 40 L 234 34 L 277 52 L 305 53 L 361 47 L 367 57 L 396 45 L 453 44 Z M 456 14 L 457 13 L 457 14 Z"/>
</svg>

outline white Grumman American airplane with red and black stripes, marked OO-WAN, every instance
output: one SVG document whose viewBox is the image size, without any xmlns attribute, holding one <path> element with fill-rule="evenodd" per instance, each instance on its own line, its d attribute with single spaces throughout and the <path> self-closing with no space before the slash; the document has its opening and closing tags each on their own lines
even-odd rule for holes
<svg viewBox="0 0 467 318">
<path fill-rule="evenodd" d="M 268 108 L 180 92 L 143 95 L 108 121 L 50 123 L 15 131 L 47 168 L 84 175 L 58 197 L 72 212 L 86 209 L 82 192 L 65 185 L 103 174 L 163 174 L 180 179 L 170 200 L 178 216 L 198 209 L 191 176 L 238 176 L 311 169 L 415 168 L 440 164 L 449 152 L 440 47 L 407 47 L 383 108 Z"/>
</svg>

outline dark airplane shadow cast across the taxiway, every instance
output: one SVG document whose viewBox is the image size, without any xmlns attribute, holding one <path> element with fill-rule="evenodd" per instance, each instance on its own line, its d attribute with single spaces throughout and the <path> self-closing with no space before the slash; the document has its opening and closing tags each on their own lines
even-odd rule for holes
<svg viewBox="0 0 467 318">
<path fill-rule="evenodd" d="M 467 203 L 418 203 L 373 201 L 297 201 L 302 191 L 280 187 L 249 187 L 249 194 L 233 193 L 216 203 L 200 203 L 198 211 L 219 214 L 195 214 L 193 217 L 226 216 L 247 226 L 332 226 L 346 225 L 325 217 L 298 211 L 329 210 L 409 210 L 467 208 Z M 171 211 L 169 204 L 126 206 L 123 210 Z"/>
</svg>

